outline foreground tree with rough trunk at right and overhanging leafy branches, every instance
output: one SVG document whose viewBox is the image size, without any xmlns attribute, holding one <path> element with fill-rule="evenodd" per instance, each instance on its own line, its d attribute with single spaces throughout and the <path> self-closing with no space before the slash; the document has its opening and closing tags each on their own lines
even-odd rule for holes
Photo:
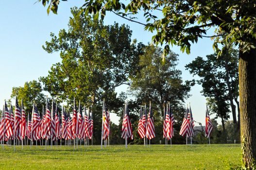
<svg viewBox="0 0 256 170">
<path fill-rule="evenodd" d="M 50 10 L 57 12 L 59 0 L 42 0 Z M 215 39 L 213 47 L 219 54 L 225 47 L 239 46 L 239 100 L 242 158 L 245 167 L 252 169 L 256 164 L 256 0 L 161 0 L 129 1 L 90 0 L 85 1 L 85 15 L 94 14 L 103 18 L 106 11 L 112 11 L 128 20 L 133 20 L 139 11 L 144 13 L 148 31 L 156 31 L 154 43 L 178 45 L 189 53 L 191 43 L 205 37 L 207 30 L 215 29 L 215 34 L 206 37 Z M 161 18 L 152 15 L 161 11 Z M 128 16 L 128 17 L 127 17 Z M 218 50 L 221 44 L 222 50 Z"/>
</svg>

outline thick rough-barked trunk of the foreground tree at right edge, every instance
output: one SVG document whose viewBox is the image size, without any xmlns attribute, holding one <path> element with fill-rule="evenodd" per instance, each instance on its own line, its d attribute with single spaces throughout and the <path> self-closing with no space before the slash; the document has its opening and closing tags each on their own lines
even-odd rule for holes
<svg viewBox="0 0 256 170">
<path fill-rule="evenodd" d="M 239 52 L 239 96 L 242 159 L 246 167 L 256 163 L 256 50 Z"/>
</svg>

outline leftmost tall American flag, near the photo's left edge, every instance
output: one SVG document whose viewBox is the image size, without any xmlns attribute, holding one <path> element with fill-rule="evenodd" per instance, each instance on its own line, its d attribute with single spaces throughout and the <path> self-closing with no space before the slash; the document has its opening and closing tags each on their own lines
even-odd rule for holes
<svg viewBox="0 0 256 170">
<path fill-rule="evenodd" d="M 4 138 L 5 140 L 13 136 L 12 118 L 4 102 Z"/>
</svg>

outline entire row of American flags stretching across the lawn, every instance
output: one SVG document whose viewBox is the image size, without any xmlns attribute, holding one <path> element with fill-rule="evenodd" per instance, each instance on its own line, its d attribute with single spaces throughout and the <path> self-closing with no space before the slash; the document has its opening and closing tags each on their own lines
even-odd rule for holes
<svg viewBox="0 0 256 170">
<path fill-rule="evenodd" d="M 125 139 L 133 139 L 133 129 L 128 109 L 128 104 L 125 103 L 124 113 L 122 118 L 121 137 Z M 170 103 L 164 108 L 163 117 L 163 137 L 171 140 L 173 137 L 173 124 L 175 123 L 174 116 Z M 179 134 L 181 136 L 191 137 L 194 135 L 194 120 L 191 107 L 187 107 L 185 117 L 183 119 Z M 206 107 L 205 115 L 205 136 L 209 137 L 213 129 L 208 108 Z M 154 117 L 151 107 L 147 113 L 146 105 L 140 107 L 140 118 L 138 123 L 138 135 L 140 138 L 152 139 L 155 137 Z M 80 102 L 77 109 L 76 102 L 73 104 L 72 118 L 69 112 L 66 112 L 65 107 L 62 108 L 61 118 L 57 104 L 52 100 L 51 109 L 48 98 L 46 100 L 46 110 L 42 111 L 40 117 L 39 111 L 34 103 L 33 113 L 26 122 L 25 109 L 23 101 L 21 106 L 18 105 L 16 99 L 15 114 L 13 114 L 12 105 L 8 110 L 6 102 L 4 103 L 3 113 L 0 119 L 0 140 L 7 141 L 8 139 L 22 140 L 27 136 L 31 140 L 58 140 L 58 139 L 91 139 L 93 136 L 93 119 L 92 113 L 87 114 L 86 108 L 82 108 Z M 106 104 L 103 103 L 102 108 L 102 139 L 107 140 L 110 136 L 110 116 Z"/>
</svg>

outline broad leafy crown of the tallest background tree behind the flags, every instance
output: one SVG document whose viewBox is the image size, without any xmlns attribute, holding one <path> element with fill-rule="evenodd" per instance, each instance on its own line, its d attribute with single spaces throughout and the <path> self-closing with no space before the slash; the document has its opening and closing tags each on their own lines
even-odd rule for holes
<svg viewBox="0 0 256 170">
<path fill-rule="evenodd" d="M 75 97 L 91 105 L 107 97 L 111 102 L 116 99 L 115 88 L 129 83 L 143 45 L 132 42 L 132 32 L 125 25 L 104 26 L 78 15 L 77 8 L 71 13 L 68 31 L 61 30 L 58 37 L 51 33 L 51 41 L 43 46 L 49 53 L 60 52 L 62 61 L 40 81 L 52 97 L 62 101 Z"/>
</svg>

